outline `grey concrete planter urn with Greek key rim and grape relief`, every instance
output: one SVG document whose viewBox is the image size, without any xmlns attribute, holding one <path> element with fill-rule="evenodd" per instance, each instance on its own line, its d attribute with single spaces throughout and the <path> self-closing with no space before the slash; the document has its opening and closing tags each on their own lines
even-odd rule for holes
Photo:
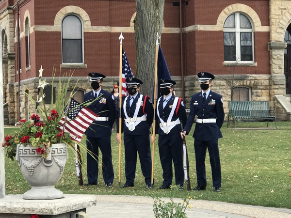
<svg viewBox="0 0 291 218">
<path fill-rule="evenodd" d="M 16 160 L 24 179 L 31 189 L 23 194 L 26 200 L 49 200 L 63 198 L 55 184 L 61 179 L 68 157 L 65 144 L 52 144 L 47 158 L 36 153 L 36 147 L 17 145 Z"/>
</svg>

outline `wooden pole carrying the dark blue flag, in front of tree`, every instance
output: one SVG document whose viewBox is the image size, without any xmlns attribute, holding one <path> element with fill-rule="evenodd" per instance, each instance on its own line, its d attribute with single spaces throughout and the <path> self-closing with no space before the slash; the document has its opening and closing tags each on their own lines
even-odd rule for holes
<svg viewBox="0 0 291 218">
<path fill-rule="evenodd" d="M 154 81 L 154 121 L 153 121 L 153 135 L 156 134 L 156 108 L 157 108 L 157 83 L 158 83 L 158 53 L 159 53 L 159 33 L 156 36 L 156 62 L 155 62 L 155 81 Z M 155 139 L 152 147 L 152 174 L 151 184 L 154 185 L 154 160 L 155 160 Z"/>
</svg>

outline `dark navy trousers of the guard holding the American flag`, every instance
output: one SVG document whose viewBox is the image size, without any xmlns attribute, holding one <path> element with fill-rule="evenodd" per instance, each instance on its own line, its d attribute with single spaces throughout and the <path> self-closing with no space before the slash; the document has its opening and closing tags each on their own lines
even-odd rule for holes
<svg viewBox="0 0 291 218">
<path fill-rule="evenodd" d="M 134 185 L 137 153 L 146 185 L 151 185 L 151 154 L 149 135 L 124 133 L 125 177 L 127 185 Z"/>
</svg>

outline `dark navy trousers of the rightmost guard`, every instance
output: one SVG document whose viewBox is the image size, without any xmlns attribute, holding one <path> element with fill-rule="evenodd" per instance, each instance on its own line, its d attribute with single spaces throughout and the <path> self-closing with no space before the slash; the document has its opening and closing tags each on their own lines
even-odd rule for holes
<svg viewBox="0 0 291 218">
<path fill-rule="evenodd" d="M 213 187 L 221 187 L 221 167 L 218 140 L 194 140 L 197 184 L 206 187 L 205 156 L 208 149 Z"/>
</svg>

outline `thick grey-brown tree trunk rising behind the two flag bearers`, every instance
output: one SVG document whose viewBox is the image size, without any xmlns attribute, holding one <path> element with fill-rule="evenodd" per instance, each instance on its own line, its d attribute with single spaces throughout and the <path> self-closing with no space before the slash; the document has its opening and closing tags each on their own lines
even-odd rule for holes
<svg viewBox="0 0 291 218">
<path fill-rule="evenodd" d="M 164 0 L 136 0 L 134 19 L 136 78 L 143 81 L 141 93 L 152 98 L 155 77 L 156 35 L 161 37 Z"/>
</svg>

